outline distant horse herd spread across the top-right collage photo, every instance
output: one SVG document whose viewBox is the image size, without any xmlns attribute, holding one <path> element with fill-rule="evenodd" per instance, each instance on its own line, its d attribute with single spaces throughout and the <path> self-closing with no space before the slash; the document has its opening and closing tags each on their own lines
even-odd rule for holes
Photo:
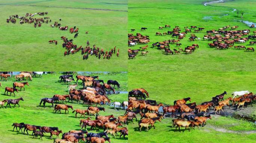
<svg viewBox="0 0 256 143">
<path fill-rule="evenodd" d="M 164 28 L 171 28 L 170 25 L 165 25 L 165 26 L 159 26 L 159 30 L 162 30 Z M 194 33 L 198 33 L 199 31 L 204 30 L 205 28 L 203 27 L 199 27 L 198 29 L 196 29 L 197 26 L 190 26 L 190 28 L 188 28 L 188 26 L 185 26 L 184 32 L 181 32 L 181 28 L 179 26 L 175 26 L 175 28 L 173 28 L 173 31 L 167 31 L 167 32 L 156 32 L 156 36 L 165 36 L 165 35 L 171 35 L 172 38 L 177 38 L 177 39 L 169 39 L 169 40 L 165 40 L 165 41 L 161 41 L 161 42 L 155 42 L 152 44 L 152 48 L 157 47 L 159 50 L 164 49 L 166 54 L 180 54 L 180 51 L 185 52 L 186 54 L 191 54 L 195 48 L 198 48 L 198 44 L 193 44 L 192 46 L 187 46 L 185 48 L 185 50 L 183 50 L 181 47 L 182 43 L 179 43 L 180 40 L 182 40 L 183 38 L 186 37 L 186 35 L 191 32 L 191 29 L 194 29 Z M 225 26 L 223 28 L 219 28 L 218 31 L 215 31 L 214 29 L 211 31 L 207 31 L 207 35 L 203 36 L 203 40 L 208 40 L 208 41 L 213 41 L 213 43 L 209 43 L 208 45 L 210 47 L 215 47 L 216 50 L 222 50 L 222 49 L 228 49 L 229 47 L 233 47 L 234 46 L 234 42 L 237 43 L 245 43 L 246 41 L 248 41 L 249 39 L 255 39 L 256 36 L 255 35 L 249 35 L 250 34 L 250 30 L 249 29 L 245 29 L 245 30 L 235 30 L 238 28 L 238 26 L 232 26 L 230 31 L 227 31 L 226 29 L 229 28 L 228 26 Z M 146 31 L 147 28 L 141 28 L 141 31 Z M 135 29 L 131 29 L 131 32 L 134 32 Z M 256 32 L 253 32 L 254 34 Z M 224 35 L 225 37 L 222 37 L 222 35 Z M 246 36 L 248 35 L 248 37 L 243 38 L 242 36 Z M 191 36 L 189 37 L 189 41 L 195 41 L 195 40 L 201 40 L 201 38 L 198 38 L 195 34 L 191 34 Z M 142 35 L 140 33 L 137 33 L 136 36 L 133 35 L 132 33 L 128 34 L 128 46 L 132 47 L 135 46 L 137 44 L 148 44 L 150 42 L 149 36 L 147 35 Z M 222 43 L 224 42 L 224 43 Z M 169 44 L 176 44 L 176 47 L 179 47 L 179 50 L 177 49 L 170 49 L 170 45 Z M 254 45 L 256 44 L 256 41 L 250 41 L 250 45 Z M 196 45 L 196 46 L 194 46 Z M 147 53 L 149 53 L 149 51 L 144 51 L 147 50 L 148 45 L 144 46 L 144 47 L 140 47 L 140 49 L 128 49 L 128 57 L 129 59 L 133 59 L 135 58 L 135 56 L 138 54 L 139 51 L 141 51 L 140 55 L 147 55 Z M 254 48 L 253 47 L 249 47 L 246 48 L 243 45 L 239 45 L 239 46 L 235 46 L 234 48 L 237 49 L 246 49 L 246 51 L 253 51 L 254 52 Z"/>
</svg>

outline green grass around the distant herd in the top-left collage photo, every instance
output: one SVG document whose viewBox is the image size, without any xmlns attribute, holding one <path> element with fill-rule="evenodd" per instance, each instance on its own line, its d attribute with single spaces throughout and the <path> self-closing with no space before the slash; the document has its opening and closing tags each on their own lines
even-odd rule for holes
<svg viewBox="0 0 256 143">
<path fill-rule="evenodd" d="M 10 11 L 11 10 L 11 11 Z M 0 70 L 33 70 L 33 71 L 127 71 L 125 61 L 127 32 L 127 0 L 0 0 L 0 56 L 4 62 Z M 25 16 L 26 13 L 48 12 L 51 23 L 43 23 L 34 28 L 33 24 L 7 23 L 10 15 Z M 34 18 L 45 17 L 36 15 Z M 59 21 L 59 18 L 62 21 Z M 51 28 L 55 21 L 69 28 L 79 28 L 79 35 L 69 31 Z M 89 34 L 85 34 L 88 30 Z M 64 57 L 65 49 L 61 36 L 74 39 L 79 47 L 86 46 L 89 40 L 91 47 L 109 51 L 113 47 L 120 49 L 119 57 L 113 55 L 110 60 L 98 60 L 95 56 L 83 60 L 81 51 Z M 58 45 L 49 44 L 55 39 Z M 15 66 L 9 66 L 15 65 Z"/>
</svg>

